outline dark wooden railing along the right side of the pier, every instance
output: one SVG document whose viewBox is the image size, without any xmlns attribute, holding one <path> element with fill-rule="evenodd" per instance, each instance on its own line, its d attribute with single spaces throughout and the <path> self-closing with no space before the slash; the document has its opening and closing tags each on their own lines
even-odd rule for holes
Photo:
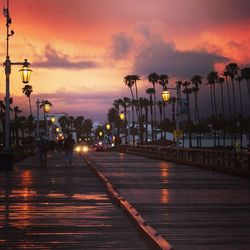
<svg viewBox="0 0 250 250">
<path fill-rule="evenodd" d="M 148 145 L 120 145 L 116 149 L 186 165 L 210 168 L 240 176 L 250 176 L 250 153 L 214 149 L 176 148 Z"/>
</svg>

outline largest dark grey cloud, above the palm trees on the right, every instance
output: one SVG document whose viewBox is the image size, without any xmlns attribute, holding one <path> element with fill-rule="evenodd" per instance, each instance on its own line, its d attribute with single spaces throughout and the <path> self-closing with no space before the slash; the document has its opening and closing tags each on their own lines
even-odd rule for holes
<svg viewBox="0 0 250 250">
<path fill-rule="evenodd" d="M 189 78 L 195 74 L 206 75 L 215 63 L 227 61 L 226 57 L 206 51 L 179 51 L 174 44 L 158 37 L 140 48 L 134 68 L 140 75 L 156 72 Z"/>
</svg>

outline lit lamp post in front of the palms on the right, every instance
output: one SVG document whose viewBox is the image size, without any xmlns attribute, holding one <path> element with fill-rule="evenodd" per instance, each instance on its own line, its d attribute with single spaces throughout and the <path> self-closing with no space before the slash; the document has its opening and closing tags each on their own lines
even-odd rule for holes
<svg viewBox="0 0 250 250">
<path fill-rule="evenodd" d="M 169 90 L 176 90 L 176 127 L 174 131 L 174 136 L 176 138 L 176 147 L 177 147 L 177 157 L 179 154 L 179 138 L 181 137 L 182 131 L 180 130 L 180 85 L 176 84 L 176 88 L 167 88 L 165 87 L 162 91 L 162 99 L 164 102 L 168 102 L 171 94 Z"/>
</svg>

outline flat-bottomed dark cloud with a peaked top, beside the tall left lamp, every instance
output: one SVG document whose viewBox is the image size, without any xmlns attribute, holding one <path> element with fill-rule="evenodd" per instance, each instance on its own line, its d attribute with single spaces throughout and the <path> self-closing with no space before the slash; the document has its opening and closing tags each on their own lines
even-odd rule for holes
<svg viewBox="0 0 250 250">
<path fill-rule="evenodd" d="M 78 61 L 71 62 L 67 55 L 56 51 L 51 45 L 45 47 L 44 56 L 45 60 L 35 61 L 32 63 L 32 67 L 39 68 L 63 68 L 63 69 L 86 69 L 97 67 L 97 64 L 93 61 Z"/>
</svg>

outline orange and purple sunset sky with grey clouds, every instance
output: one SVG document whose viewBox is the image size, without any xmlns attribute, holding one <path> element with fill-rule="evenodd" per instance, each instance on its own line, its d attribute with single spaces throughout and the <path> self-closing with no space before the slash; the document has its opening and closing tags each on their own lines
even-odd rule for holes
<svg viewBox="0 0 250 250">
<path fill-rule="evenodd" d="M 36 99 L 48 99 L 52 112 L 104 121 L 114 99 L 130 97 L 128 74 L 141 76 L 145 95 L 151 72 L 168 74 L 173 84 L 250 62 L 249 0 L 10 0 L 10 16 L 10 57 L 32 63 L 34 112 Z M 4 68 L 0 79 L 2 99 Z M 11 96 L 25 113 L 21 88 L 13 66 Z"/>
</svg>

